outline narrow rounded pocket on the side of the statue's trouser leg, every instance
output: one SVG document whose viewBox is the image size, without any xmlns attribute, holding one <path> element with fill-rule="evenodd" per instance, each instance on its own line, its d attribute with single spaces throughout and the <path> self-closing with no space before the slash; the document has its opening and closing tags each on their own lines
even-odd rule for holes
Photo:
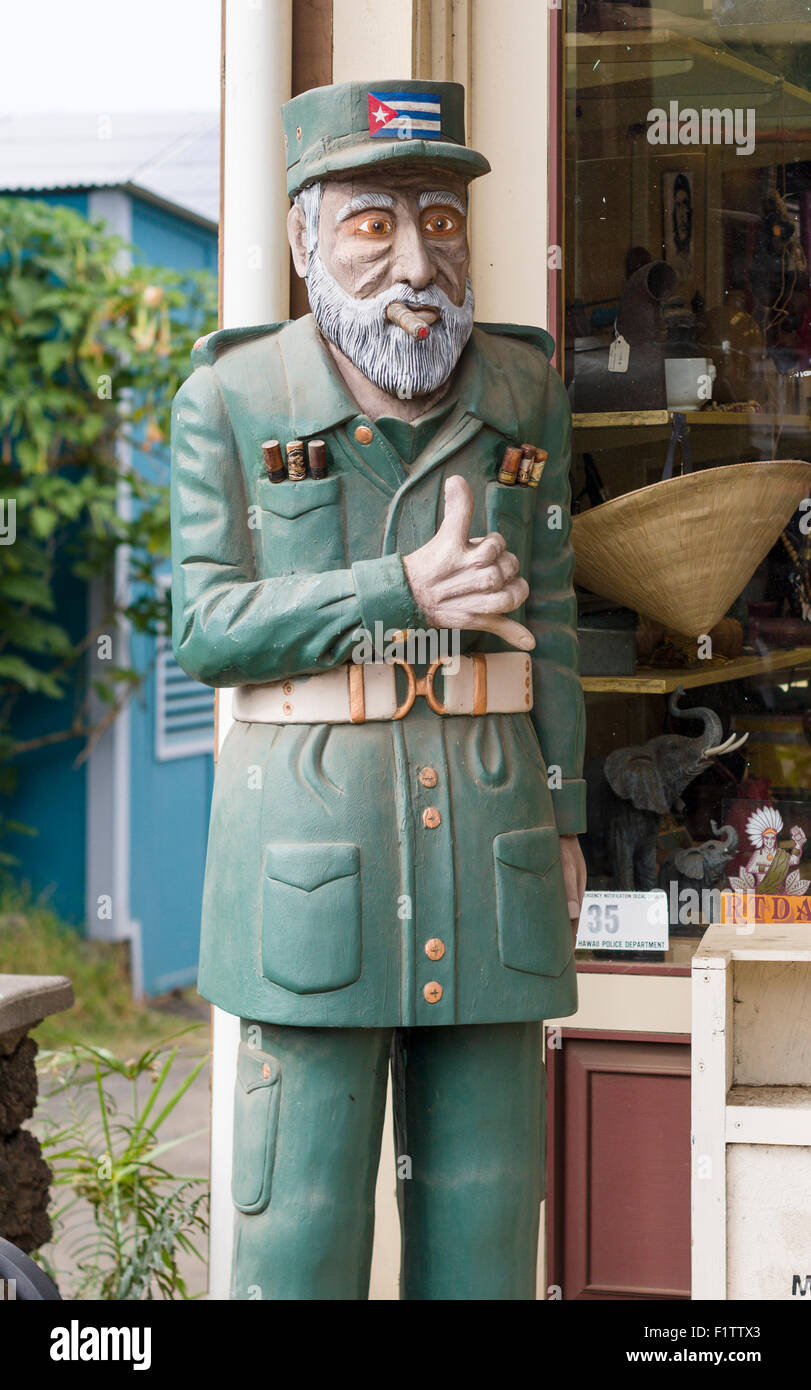
<svg viewBox="0 0 811 1390">
<path fill-rule="evenodd" d="M 241 1212 L 263 1212 L 270 1201 L 281 1066 L 270 1052 L 239 1044 L 234 1101 L 231 1197 Z"/>
</svg>

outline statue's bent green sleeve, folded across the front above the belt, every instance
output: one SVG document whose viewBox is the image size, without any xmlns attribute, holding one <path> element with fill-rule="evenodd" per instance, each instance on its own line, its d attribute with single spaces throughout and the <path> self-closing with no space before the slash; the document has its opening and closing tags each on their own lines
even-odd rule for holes
<svg viewBox="0 0 811 1390">
<path fill-rule="evenodd" d="M 262 578 L 228 411 L 210 366 L 172 409 L 172 641 L 209 685 L 328 670 L 363 630 L 423 626 L 398 555 L 324 574 Z"/>
</svg>

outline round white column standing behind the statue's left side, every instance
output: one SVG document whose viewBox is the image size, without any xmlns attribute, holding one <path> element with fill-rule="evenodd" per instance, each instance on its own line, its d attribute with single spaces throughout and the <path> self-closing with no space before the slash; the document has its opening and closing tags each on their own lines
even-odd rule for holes
<svg viewBox="0 0 811 1390">
<path fill-rule="evenodd" d="M 291 96 L 292 0 L 224 0 L 223 328 L 288 318 L 289 247 L 280 110 Z M 217 692 L 218 744 L 231 692 Z M 209 1297 L 227 1298 L 234 1208 L 231 1147 L 239 1023 L 211 1009 Z"/>
</svg>

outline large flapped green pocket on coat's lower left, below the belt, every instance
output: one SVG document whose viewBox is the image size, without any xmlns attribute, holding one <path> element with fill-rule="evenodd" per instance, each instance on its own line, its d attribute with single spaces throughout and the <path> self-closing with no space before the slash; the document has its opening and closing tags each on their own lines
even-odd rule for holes
<svg viewBox="0 0 811 1390">
<path fill-rule="evenodd" d="M 295 994 L 342 990 L 360 976 L 358 845 L 268 845 L 262 972 Z"/>
</svg>

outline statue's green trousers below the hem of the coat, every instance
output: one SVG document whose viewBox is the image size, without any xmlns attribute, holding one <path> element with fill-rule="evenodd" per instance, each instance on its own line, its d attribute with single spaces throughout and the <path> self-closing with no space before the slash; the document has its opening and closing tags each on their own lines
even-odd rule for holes
<svg viewBox="0 0 811 1390">
<path fill-rule="evenodd" d="M 401 1298 L 536 1297 L 541 1023 L 242 1020 L 232 1298 L 369 1297 L 390 1059 Z"/>
</svg>

